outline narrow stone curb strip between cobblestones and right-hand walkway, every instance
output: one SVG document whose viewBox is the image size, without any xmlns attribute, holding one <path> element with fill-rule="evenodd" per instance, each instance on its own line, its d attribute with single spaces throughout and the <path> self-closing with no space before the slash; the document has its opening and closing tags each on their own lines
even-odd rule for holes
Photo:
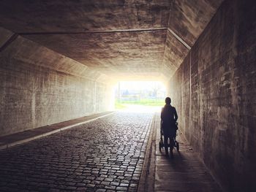
<svg viewBox="0 0 256 192">
<path fill-rule="evenodd" d="M 148 137 L 148 145 L 146 147 L 143 169 L 140 174 L 138 192 L 154 191 L 154 177 L 156 168 L 156 115 L 157 113 L 154 114 L 154 117 L 150 123 L 150 134 Z"/>
</svg>

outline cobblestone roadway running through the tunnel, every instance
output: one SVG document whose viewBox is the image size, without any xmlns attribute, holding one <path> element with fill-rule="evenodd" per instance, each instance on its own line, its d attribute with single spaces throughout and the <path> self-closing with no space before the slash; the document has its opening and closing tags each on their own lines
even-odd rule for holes
<svg viewBox="0 0 256 192">
<path fill-rule="evenodd" d="M 118 112 L 0 150 L 0 191 L 137 191 L 152 116 Z"/>
</svg>

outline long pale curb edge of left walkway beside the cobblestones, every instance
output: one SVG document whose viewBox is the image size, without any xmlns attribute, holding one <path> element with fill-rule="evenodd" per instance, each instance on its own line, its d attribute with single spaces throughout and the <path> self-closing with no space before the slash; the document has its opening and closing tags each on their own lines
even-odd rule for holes
<svg viewBox="0 0 256 192">
<path fill-rule="evenodd" d="M 21 139 L 21 140 L 18 140 L 18 141 L 16 141 L 16 142 L 10 142 L 10 143 L 4 144 L 4 145 L 0 145 L 0 150 L 7 149 L 7 148 L 13 147 L 13 146 L 15 146 L 15 145 L 20 145 L 20 144 L 23 144 L 23 143 L 25 143 L 25 142 L 30 142 L 30 141 L 32 141 L 32 140 L 39 139 L 39 138 L 42 138 L 42 137 L 46 137 L 46 136 L 48 136 L 48 135 L 50 135 L 50 134 L 55 134 L 55 133 L 57 133 L 57 132 L 64 131 L 64 130 L 66 130 L 66 129 L 68 129 L 68 128 L 72 128 L 72 127 L 75 127 L 75 126 L 80 126 L 80 125 L 82 125 L 82 124 L 84 124 L 84 123 L 89 123 L 89 122 L 91 122 L 91 121 L 93 121 L 93 120 L 97 120 L 97 119 L 99 119 L 99 118 L 104 118 L 104 117 L 106 117 L 106 116 L 108 116 L 108 115 L 113 115 L 114 113 L 115 113 L 115 112 L 110 112 L 110 113 L 107 114 L 107 115 L 102 115 L 102 116 L 99 116 L 99 117 L 97 117 L 97 118 L 92 118 L 92 119 L 90 119 L 90 120 L 85 120 L 85 121 L 80 122 L 80 123 L 75 123 L 74 125 L 71 125 L 71 126 L 65 126 L 65 127 L 62 127 L 62 128 L 57 128 L 56 130 L 49 131 L 49 132 L 43 133 L 43 134 L 39 134 L 39 135 L 34 136 L 34 137 L 30 137 L 30 138 L 27 138 L 27 139 Z"/>
</svg>

